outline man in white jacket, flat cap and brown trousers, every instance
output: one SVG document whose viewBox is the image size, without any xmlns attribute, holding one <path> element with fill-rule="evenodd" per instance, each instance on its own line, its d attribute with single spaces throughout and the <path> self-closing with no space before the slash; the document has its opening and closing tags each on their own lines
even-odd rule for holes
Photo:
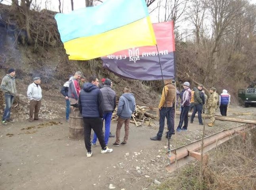
<svg viewBox="0 0 256 190">
<path fill-rule="evenodd" d="M 40 77 L 36 76 L 33 78 L 33 83 L 29 85 L 27 90 L 27 96 L 30 100 L 29 106 L 29 122 L 33 122 L 33 114 L 34 120 L 38 120 L 38 113 L 41 108 L 41 99 L 42 99 L 42 89 L 39 86 L 41 84 Z"/>
</svg>

